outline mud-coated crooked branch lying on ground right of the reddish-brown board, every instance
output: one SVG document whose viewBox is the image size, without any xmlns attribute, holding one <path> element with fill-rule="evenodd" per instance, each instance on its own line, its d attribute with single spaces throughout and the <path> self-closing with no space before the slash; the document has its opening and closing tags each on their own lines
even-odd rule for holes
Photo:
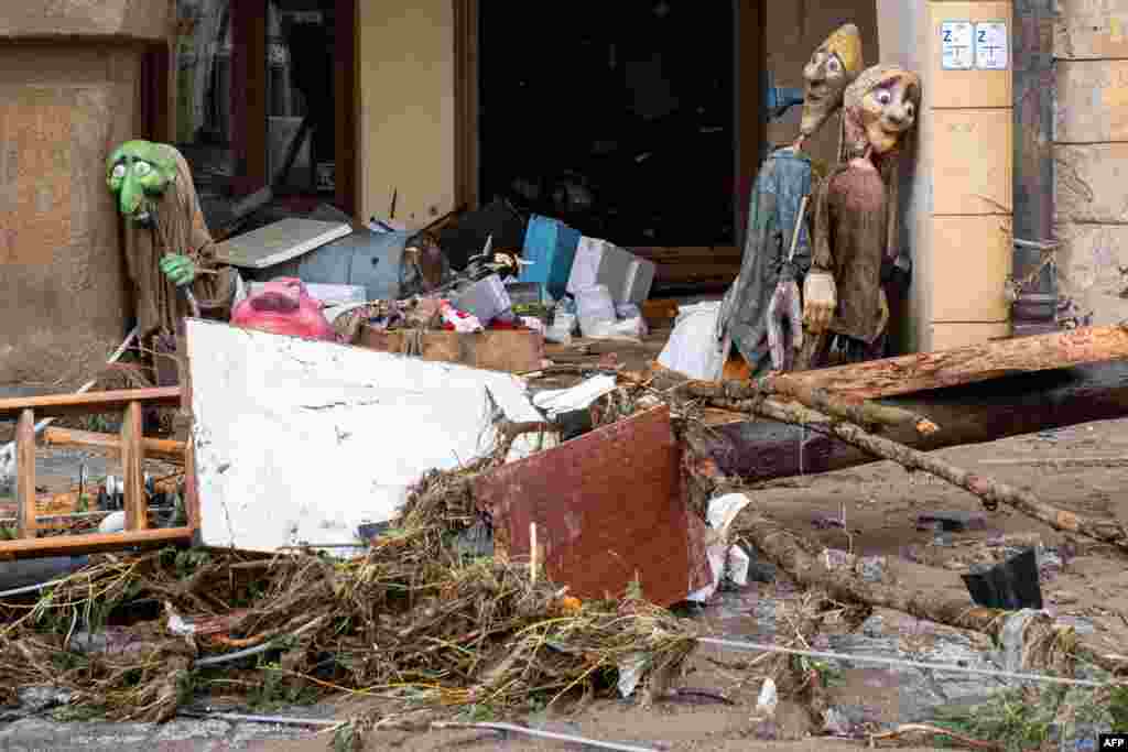
<svg viewBox="0 0 1128 752">
<path fill-rule="evenodd" d="M 750 506 L 741 514 L 740 533 L 772 563 L 804 587 L 818 589 L 830 598 L 846 603 L 864 603 L 873 608 L 902 611 L 917 619 L 982 632 L 998 638 L 1011 612 L 972 604 L 959 583 L 952 583 L 949 591 L 935 589 L 918 590 L 913 582 L 928 582 L 927 577 L 914 577 L 911 570 L 924 569 L 919 565 L 898 563 L 904 569 L 898 582 L 866 582 L 845 567 L 828 567 L 825 557 L 817 554 L 819 547 L 796 536 L 775 520 L 757 513 Z M 957 590 L 958 587 L 958 590 Z M 962 593 L 957 595 L 957 593 Z M 1055 628 L 1048 617 L 1039 617 L 1040 636 L 1028 630 L 1026 639 L 1051 639 Z M 1128 671 L 1128 657 L 1109 653 L 1087 636 L 1075 636 L 1076 652 L 1095 665 L 1119 674 Z"/>
</svg>

